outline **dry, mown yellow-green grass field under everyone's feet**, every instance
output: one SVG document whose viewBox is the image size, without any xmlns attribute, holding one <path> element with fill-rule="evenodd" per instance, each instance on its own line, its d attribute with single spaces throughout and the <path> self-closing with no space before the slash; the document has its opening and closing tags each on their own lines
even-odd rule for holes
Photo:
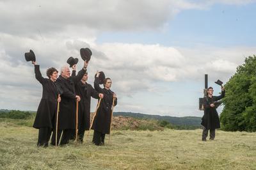
<svg viewBox="0 0 256 170">
<path fill-rule="evenodd" d="M 0 169 L 256 169 L 256 134 L 202 130 L 115 130 L 105 146 L 37 148 L 38 130 L 0 122 Z"/>
</svg>

